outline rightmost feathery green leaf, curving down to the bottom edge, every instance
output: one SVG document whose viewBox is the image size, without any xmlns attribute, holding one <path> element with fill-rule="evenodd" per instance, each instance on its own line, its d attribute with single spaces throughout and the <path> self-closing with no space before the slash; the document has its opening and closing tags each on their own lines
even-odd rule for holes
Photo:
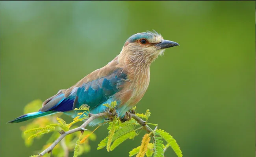
<svg viewBox="0 0 256 157">
<path fill-rule="evenodd" d="M 177 144 L 176 140 L 166 131 L 157 129 L 155 130 L 157 135 L 160 135 L 170 146 L 173 148 L 174 152 L 178 157 L 182 157 L 182 152 L 180 150 L 179 145 Z"/>
</svg>

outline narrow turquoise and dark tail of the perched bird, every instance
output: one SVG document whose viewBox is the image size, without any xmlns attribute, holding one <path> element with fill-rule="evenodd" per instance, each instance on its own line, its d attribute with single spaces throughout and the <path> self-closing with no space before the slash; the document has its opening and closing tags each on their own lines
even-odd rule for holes
<svg viewBox="0 0 256 157">
<path fill-rule="evenodd" d="M 14 120 L 11 120 L 7 123 L 18 123 L 18 122 L 23 122 L 23 121 L 26 121 L 26 120 L 29 120 L 29 119 L 34 119 L 34 118 L 37 118 L 37 117 L 43 117 L 45 115 L 52 115 L 54 113 L 57 113 L 58 111 L 46 111 L 46 112 L 41 112 L 41 111 L 38 111 L 38 112 L 32 112 L 32 113 L 27 113 L 25 115 L 22 115 Z"/>
</svg>

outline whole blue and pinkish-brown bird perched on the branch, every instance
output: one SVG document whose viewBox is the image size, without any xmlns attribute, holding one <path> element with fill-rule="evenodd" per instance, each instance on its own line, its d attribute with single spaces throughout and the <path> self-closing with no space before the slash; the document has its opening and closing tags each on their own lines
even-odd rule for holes
<svg viewBox="0 0 256 157">
<path fill-rule="evenodd" d="M 146 31 L 130 36 L 121 52 L 106 66 L 96 69 L 67 89 L 46 99 L 39 111 L 17 117 L 9 123 L 63 112 L 76 117 L 75 108 L 83 104 L 90 107 L 90 113 L 106 112 L 103 104 L 117 102 L 115 110 L 119 117 L 135 106 L 147 91 L 150 80 L 150 65 L 163 55 L 165 49 L 179 46 L 178 43 L 164 40 L 156 31 Z M 93 120 L 94 126 L 104 122 L 104 117 Z"/>
</svg>

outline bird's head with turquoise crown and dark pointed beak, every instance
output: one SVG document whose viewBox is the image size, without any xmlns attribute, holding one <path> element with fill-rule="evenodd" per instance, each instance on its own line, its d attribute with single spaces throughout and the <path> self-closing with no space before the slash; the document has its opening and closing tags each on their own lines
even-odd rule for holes
<svg viewBox="0 0 256 157">
<path fill-rule="evenodd" d="M 164 40 L 156 31 L 147 31 L 129 37 L 119 56 L 126 63 L 150 65 L 166 48 L 178 45 L 176 42 Z"/>
</svg>

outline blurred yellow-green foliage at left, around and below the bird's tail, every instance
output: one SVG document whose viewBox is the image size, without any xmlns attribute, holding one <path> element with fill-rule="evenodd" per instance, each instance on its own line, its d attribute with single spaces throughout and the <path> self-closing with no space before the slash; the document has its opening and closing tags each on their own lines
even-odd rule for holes
<svg viewBox="0 0 256 157">
<path fill-rule="evenodd" d="M 26 110 L 24 111 L 24 113 L 28 113 L 28 112 L 32 112 L 34 110 L 38 110 L 38 108 L 40 108 L 41 105 L 42 105 L 41 100 L 34 100 L 34 101 L 32 101 L 28 104 L 29 107 L 27 107 L 27 106 L 25 107 Z M 30 110 L 30 107 L 32 107 L 33 110 Z M 45 144 L 43 146 L 41 151 L 48 148 L 59 137 L 59 135 L 60 135 L 59 131 L 61 131 L 61 130 L 64 131 L 64 129 L 62 128 L 63 126 L 61 127 L 61 124 L 58 124 L 58 120 L 56 120 L 56 116 L 59 117 L 61 114 L 62 113 L 56 113 L 52 117 L 51 116 L 40 117 L 40 118 L 32 120 L 32 122 L 30 122 L 26 126 L 21 126 L 20 130 L 25 132 L 25 133 L 22 133 L 22 138 L 24 139 L 24 142 L 25 142 L 26 146 L 31 146 L 33 144 L 34 139 L 40 139 L 41 137 L 43 137 L 43 135 L 46 133 L 46 131 L 52 130 L 50 132 L 47 132 L 47 133 L 52 133 L 52 135 L 50 136 L 50 138 L 46 142 L 47 144 Z M 82 121 L 84 116 L 82 115 L 81 117 L 82 117 L 81 119 L 74 120 L 74 121 L 70 122 L 69 124 L 67 124 L 63 119 L 62 119 L 63 121 L 61 120 L 61 122 L 63 124 L 66 124 L 65 126 L 67 126 L 70 129 L 77 128 L 78 126 L 75 126 L 74 124 Z M 54 130 L 53 127 L 55 128 L 55 130 Z M 45 130 L 45 132 L 43 132 L 43 134 L 40 133 L 40 131 L 44 131 L 44 130 Z M 66 128 L 66 130 L 67 130 L 67 128 Z M 89 145 L 89 141 L 95 141 L 96 140 L 95 133 L 91 133 L 91 131 L 89 131 L 89 130 L 83 131 L 83 136 L 84 135 L 86 136 L 88 134 L 91 134 L 91 135 L 86 140 L 86 142 L 83 143 L 82 146 L 80 146 L 80 148 L 78 149 L 78 156 L 82 155 L 83 153 L 89 152 L 91 150 L 91 147 Z M 67 135 L 64 139 L 62 139 L 62 141 L 65 142 L 68 151 L 74 150 L 74 148 L 76 146 L 76 141 L 77 141 L 79 135 L 80 135 L 80 132 L 76 132 L 76 133 L 72 133 L 70 135 Z M 30 139 L 28 139 L 30 136 L 35 137 L 35 138 L 31 137 Z M 63 150 L 62 145 L 57 144 L 54 147 L 54 149 L 52 150 L 52 154 L 53 154 L 54 157 L 64 157 L 65 151 Z M 41 157 L 41 156 L 32 155 L 32 157 Z"/>
</svg>

